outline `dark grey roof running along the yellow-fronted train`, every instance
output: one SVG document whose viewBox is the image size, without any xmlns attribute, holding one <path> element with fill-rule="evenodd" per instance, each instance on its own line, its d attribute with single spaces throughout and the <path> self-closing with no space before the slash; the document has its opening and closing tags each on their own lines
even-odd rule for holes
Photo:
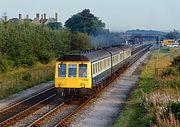
<svg viewBox="0 0 180 127">
<path fill-rule="evenodd" d="M 122 47 L 110 47 L 101 50 L 95 50 L 91 52 L 84 52 L 84 53 L 72 53 L 72 54 L 65 54 L 57 59 L 57 61 L 97 61 L 106 57 L 110 57 L 111 54 L 116 54 L 120 51 L 129 48 L 129 46 L 122 46 Z"/>
</svg>

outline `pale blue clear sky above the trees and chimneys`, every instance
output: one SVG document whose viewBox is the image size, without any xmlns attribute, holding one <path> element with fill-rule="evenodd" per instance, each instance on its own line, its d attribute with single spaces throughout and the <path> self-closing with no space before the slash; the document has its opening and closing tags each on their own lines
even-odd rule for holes
<svg viewBox="0 0 180 127">
<path fill-rule="evenodd" d="M 0 0 L 0 16 L 8 18 L 46 13 L 63 24 L 83 9 L 99 17 L 110 31 L 180 30 L 180 0 Z"/>
</svg>

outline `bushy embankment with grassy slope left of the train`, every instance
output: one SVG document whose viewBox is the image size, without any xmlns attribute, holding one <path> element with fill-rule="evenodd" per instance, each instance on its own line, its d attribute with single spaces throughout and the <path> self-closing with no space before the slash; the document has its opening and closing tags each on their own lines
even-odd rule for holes
<svg viewBox="0 0 180 127">
<path fill-rule="evenodd" d="M 53 80 L 55 59 L 90 48 L 89 36 L 28 21 L 0 22 L 0 99 Z"/>
</svg>

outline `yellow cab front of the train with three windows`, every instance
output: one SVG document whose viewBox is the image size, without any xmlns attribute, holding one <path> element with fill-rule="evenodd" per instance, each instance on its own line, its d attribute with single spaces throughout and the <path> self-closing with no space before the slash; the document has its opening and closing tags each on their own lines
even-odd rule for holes
<svg viewBox="0 0 180 127">
<path fill-rule="evenodd" d="M 91 88 L 91 64 L 89 62 L 56 62 L 55 88 L 63 98 L 84 94 Z"/>
</svg>

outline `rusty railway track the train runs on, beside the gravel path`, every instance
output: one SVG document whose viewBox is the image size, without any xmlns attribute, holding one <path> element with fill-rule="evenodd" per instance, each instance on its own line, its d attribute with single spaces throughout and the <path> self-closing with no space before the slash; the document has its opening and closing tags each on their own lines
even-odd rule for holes
<svg viewBox="0 0 180 127">
<path fill-rule="evenodd" d="M 126 68 L 120 69 L 117 73 L 109 77 L 106 81 L 102 82 L 100 85 L 101 87 L 97 87 L 95 93 L 89 97 L 87 100 L 74 104 L 69 103 L 65 104 L 62 103 L 55 107 L 53 110 L 42 116 L 41 118 L 37 119 L 35 122 L 30 124 L 28 127 L 63 127 L 65 126 L 82 108 L 88 105 L 88 103 L 98 96 L 102 91 L 107 88 L 109 84 L 111 84 L 119 75 L 121 75 L 128 67 L 130 67 L 134 62 L 136 62 L 149 48 L 150 46 L 146 47 L 144 50 L 138 52 L 138 54 L 133 56 L 132 61 L 130 62 L 129 66 Z"/>
</svg>

